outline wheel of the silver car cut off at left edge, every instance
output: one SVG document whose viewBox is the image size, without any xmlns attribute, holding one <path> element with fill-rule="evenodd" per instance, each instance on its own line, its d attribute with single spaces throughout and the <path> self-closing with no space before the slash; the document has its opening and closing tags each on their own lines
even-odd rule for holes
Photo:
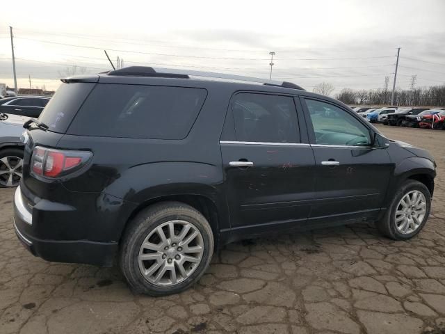
<svg viewBox="0 0 445 334">
<path fill-rule="evenodd" d="M 23 150 L 19 148 L 0 150 L 0 188 L 12 188 L 19 185 L 22 178 L 22 161 Z M 7 170 L 13 173 L 5 173 Z"/>
</svg>

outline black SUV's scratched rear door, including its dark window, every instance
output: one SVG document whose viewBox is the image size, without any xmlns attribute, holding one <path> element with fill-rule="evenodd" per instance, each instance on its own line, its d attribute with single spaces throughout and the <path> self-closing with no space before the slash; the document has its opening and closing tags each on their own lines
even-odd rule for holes
<svg viewBox="0 0 445 334">
<path fill-rule="evenodd" d="M 291 96 L 232 97 L 220 141 L 232 229 L 249 235 L 307 221 L 314 154 L 302 141 L 300 118 Z"/>
</svg>

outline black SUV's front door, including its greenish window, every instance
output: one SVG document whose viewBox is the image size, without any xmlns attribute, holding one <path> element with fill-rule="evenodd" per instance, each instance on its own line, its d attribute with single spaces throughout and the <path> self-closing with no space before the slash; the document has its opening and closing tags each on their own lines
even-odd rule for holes
<svg viewBox="0 0 445 334">
<path fill-rule="evenodd" d="M 368 126 L 325 100 L 303 98 L 315 155 L 313 223 L 355 221 L 378 215 L 394 168 L 387 150 L 371 146 Z"/>
</svg>

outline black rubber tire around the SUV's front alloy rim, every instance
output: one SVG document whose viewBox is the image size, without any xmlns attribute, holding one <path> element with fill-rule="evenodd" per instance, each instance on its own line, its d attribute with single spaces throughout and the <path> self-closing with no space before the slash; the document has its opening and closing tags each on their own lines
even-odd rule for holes
<svg viewBox="0 0 445 334">
<path fill-rule="evenodd" d="M 407 228 L 406 232 L 401 232 L 401 230 L 399 230 L 398 228 L 398 224 L 399 226 L 401 226 L 403 224 L 403 221 L 396 223 L 396 212 L 398 212 L 398 209 L 403 209 L 403 205 L 400 204 L 402 198 L 404 198 L 404 196 L 410 196 L 409 194 L 412 192 L 420 192 L 423 194 L 425 199 L 425 213 L 423 214 L 423 218 L 419 220 L 419 225 L 416 228 L 410 227 Z M 422 230 L 423 226 L 426 224 L 426 221 L 428 221 L 428 216 L 430 215 L 430 209 L 431 209 L 431 196 L 430 196 L 430 191 L 425 186 L 425 184 L 416 180 L 407 180 L 405 181 L 405 183 L 403 183 L 401 189 L 399 189 L 396 192 L 396 195 L 394 196 L 391 205 L 387 209 L 385 216 L 382 218 L 382 220 L 376 223 L 376 226 L 380 231 L 380 233 L 382 233 L 383 235 L 385 235 L 385 237 L 388 237 L 390 239 L 394 240 L 411 239 Z"/>
</svg>

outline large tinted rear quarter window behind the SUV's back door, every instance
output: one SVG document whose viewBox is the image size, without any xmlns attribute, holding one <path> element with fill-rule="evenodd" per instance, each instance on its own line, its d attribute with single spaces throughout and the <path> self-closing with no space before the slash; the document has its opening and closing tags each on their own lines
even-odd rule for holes
<svg viewBox="0 0 445 334">
<path fill-rule="evenodd" d="M 207 90 L 168 86 L 98 84 L 72 122 L 69 134 L 183 139 Z"/>
</svg>

